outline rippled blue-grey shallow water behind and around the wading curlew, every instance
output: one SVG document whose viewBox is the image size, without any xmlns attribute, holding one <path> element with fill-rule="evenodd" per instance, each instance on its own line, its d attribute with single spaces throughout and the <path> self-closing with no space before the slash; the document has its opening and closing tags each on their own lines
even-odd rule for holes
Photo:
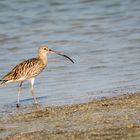
<svg viewBox="0 0 140 140">
<path fill-rule="evenodd" d="M 139 5 L 139 0 L 0 1 L 0 76 L 48 44 L 75 64 L 49 55 L 35 81 L 43 106 L 139 91 Z M 1 108 L 15 105 L 17 86 L 0 88 Z M 33 102 L 29 86 L 23 85 L 25 106 Z"/>
</svg>

